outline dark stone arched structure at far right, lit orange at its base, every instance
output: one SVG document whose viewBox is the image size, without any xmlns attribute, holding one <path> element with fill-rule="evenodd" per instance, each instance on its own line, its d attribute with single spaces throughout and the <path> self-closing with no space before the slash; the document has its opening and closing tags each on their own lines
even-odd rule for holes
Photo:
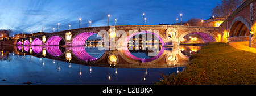
<svg viewBox="0 0 256 96">
<path fill-rule="evenodd" d="M 250 41 L 250 47 L 256 47 L 254 35 L 256 23 L 255 0 L 247 0 L 237 8 L 219 27 L 221 41 Z"/>
</svg>

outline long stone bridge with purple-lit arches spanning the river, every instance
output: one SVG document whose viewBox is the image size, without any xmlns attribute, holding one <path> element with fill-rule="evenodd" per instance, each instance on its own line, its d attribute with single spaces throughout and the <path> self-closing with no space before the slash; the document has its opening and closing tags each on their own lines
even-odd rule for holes
<svg viewBox="0 0 256 96">
<path fill-rule="evenodd" d="M 46 33 L 39 36 L 19 38 L 16 41 L 16 45 L 55 46 L 60 45 L 60 42 L 63 42 L 62 45 L 84 46 L 88 37 L 93 34 L 98 34 L 104 38 L 105 41 L 110 41 L 111 38 L 118 41 L 122 38 L 121 43 L 118 43 L 122 46 L 123 42 L 129 41 L 132 36 L 139 33 L 154 34 L 154 36 L 159 38 L 162 45 L 170 45 L 170 43 L 173 46 L 179 45 L 182 38 L 187 34 L 196 34 L 205 42 L 220 41 L 218 28 L 212 27 L 188 27 L 180 25 L 118 25 L 79 28 L 55 33 Z M 109 37 L 110 40 L 106 40 Z"/>
</svg>

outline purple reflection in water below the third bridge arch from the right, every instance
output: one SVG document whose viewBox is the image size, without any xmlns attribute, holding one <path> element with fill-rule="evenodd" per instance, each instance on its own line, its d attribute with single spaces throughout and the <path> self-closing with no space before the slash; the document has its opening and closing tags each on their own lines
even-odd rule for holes
<svg viewBox="0 0 256 96">
<path fill-rule="evenodd" d="M 91 62 L 91 61 L 94 61 L 94 60 L 97 60 L 98 58 L 94 58 L 93 56 L 90 56 L 86 50 L 85 50 L 85 47 L 84 46 L 79 46 L 79 47 L 72 47 L 72 52 L 73 54 L 81 59 L 81 60 L 84 60 L 85 62 Z"/>
</svg>

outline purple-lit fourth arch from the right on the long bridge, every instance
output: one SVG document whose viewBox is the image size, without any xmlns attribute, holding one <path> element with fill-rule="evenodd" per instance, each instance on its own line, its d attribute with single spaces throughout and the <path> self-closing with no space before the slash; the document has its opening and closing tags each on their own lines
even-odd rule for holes
<svg viewBox="0 0 256 96">
<path fill-rule="evenodd" d="M 65 39 L 61 36 L 51 36 L 46 41 L 46 46 L 65 45 Z"/>
</svg>

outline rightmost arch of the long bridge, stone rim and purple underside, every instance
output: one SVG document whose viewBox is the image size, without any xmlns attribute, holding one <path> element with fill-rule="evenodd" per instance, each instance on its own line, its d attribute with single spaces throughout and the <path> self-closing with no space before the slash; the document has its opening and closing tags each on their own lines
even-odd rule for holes
<svg viewBox="0 0 256 96">
<path fill-rule="evenodd" d="M 213 33 L 210 33 L 210 32 L 207 32 L 207 31 L 206 32 L 205 31 L 201 31 L 201 32 L 188 31 L 188 32 L 185 32 L 185 33 L 180 35 L 178 44 L 180 44 L 182 38 L 187 36 L 188 34 L 196 34 L 204 42 L 217 42 L 218 41 L 218 37 Z"/>
</svg>

